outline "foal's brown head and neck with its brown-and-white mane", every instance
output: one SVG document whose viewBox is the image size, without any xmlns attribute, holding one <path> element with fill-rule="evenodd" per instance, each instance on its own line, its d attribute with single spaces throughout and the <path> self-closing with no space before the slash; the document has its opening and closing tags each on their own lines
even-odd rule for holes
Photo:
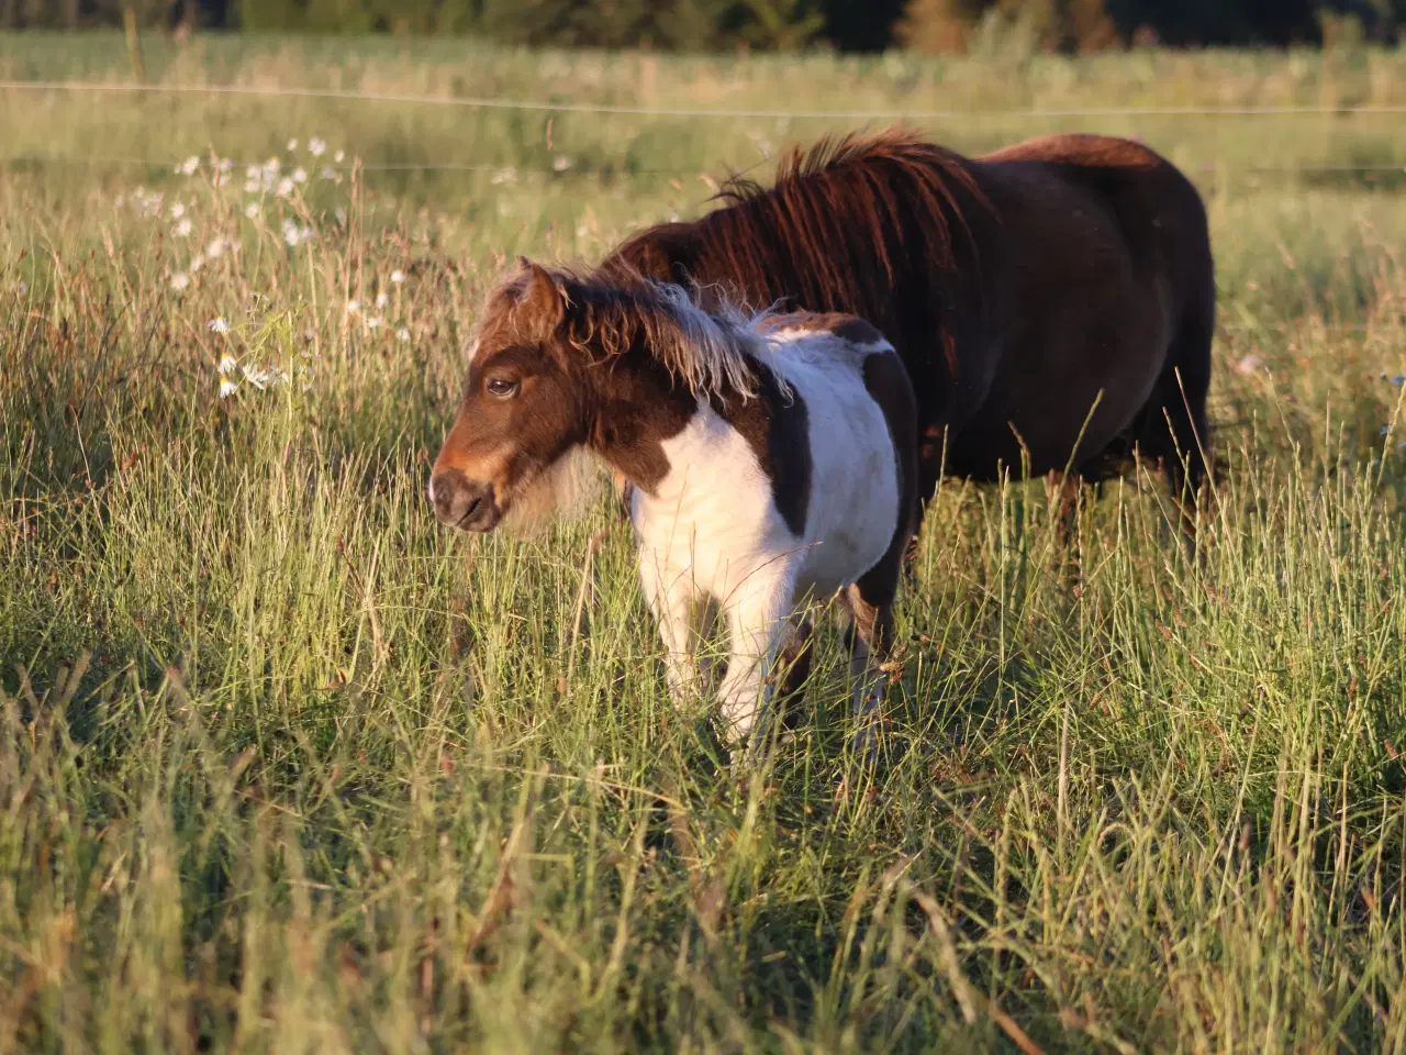
<svg viewBox="0 0 1406 1055">
<path fill-rule="evenodd" d="M 700 395 L 754 392 L 765 339 L 727 305 L 709 314 L 676 286 L 519 264 L 488 295 L 430 478 L 434 515 L 454 528 L 541 512 L 579 484 L 586 446 L 619 454 L 665 419 L 682 428 Z"/>
</svg>

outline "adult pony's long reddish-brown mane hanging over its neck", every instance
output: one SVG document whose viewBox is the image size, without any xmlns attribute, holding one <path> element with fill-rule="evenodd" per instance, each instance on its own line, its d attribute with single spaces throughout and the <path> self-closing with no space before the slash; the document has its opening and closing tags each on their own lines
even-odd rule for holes
<svg viewBox="0 0 1406 1055">
<path fill-rule="evenodd" d="M 733 177 L 714 198 L 723 208 L 693 222 L 634 234 L 602 270 L 730 280 L 883 329 L 896 297 L 939 309 L 950 290 L 932 276 L 974 255 L 966 210 L 986 205 L 960 155 L 901 128 L 792 148 L 770 187 Z M 915 276 L 929 286 L 915 288 Z"/>
</svg>

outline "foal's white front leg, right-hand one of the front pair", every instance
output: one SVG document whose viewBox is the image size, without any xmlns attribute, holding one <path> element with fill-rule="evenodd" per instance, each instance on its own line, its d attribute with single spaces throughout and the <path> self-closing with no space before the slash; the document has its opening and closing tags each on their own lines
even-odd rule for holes
<svg viewBox="0 0 1406 1055">
<path fill-rule="evenodd" d="M 775 695 L 769 675 L 786 633 L 793 592 L 792 577 L 782 574 L 749 580 L 724 601 L 731 644 L 718 708 L 734 746 L 745 747 L 766 734 Z"/>
</svg>

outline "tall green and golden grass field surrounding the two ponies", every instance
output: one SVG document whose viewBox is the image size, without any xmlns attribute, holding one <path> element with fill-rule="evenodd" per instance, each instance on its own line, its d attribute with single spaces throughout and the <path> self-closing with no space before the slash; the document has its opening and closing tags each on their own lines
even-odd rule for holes
<svg viewBox="0 0 1406 1055">
<path fill-rule="evenodd" d="M 0 37 L 0 79 L 125 62 Z M 654 108 L 1406 101 L 1395 52 L 146 65 Z M 427 457 L 513 253 L 589 262 L 855 121 L 0 97 L 0 1051 L 1406 1051 L 1406 114 L 920 122 L 1137 134 L 1204 188 L 1208 544 L 1156 480 L 1070 560 L 1043 484 L 950 481 L 887 764 L 846 751 L 827 633 L 813 719 L 740 775 L 666 696 L 607 505 L 451 535 Z M 426 165 L 458 167 L 387 167 Z"/>
</svg>

